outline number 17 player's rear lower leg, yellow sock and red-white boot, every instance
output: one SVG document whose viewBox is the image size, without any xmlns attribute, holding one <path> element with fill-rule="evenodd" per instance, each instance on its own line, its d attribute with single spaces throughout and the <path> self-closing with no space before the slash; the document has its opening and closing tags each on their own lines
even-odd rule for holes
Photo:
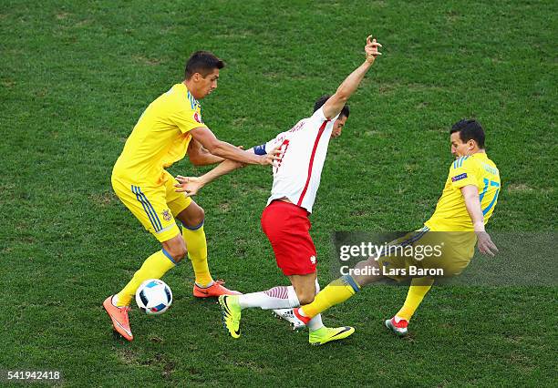
<svg viewBox="0 0 558 388">
<path fill-rule="evenodd" d="M 407 299 L 403 307 L 393 318 L 386 320 L 387 329 L 399 337 L 408 335 L 408 322 L 415 311 L 417 311 L 418 305 L 424 299 L 433 283 L 434 280 L 429 278 L 413 279 L 408 288 Z"/>
</svg>

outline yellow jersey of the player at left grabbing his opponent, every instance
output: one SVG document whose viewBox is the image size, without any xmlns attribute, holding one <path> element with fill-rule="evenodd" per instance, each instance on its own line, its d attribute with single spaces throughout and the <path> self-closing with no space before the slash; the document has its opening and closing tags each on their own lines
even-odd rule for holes
<svg viewBox="0 0 558 388">
<path fill-rule="evenodd" d="M 113 177 L 137 185 L 163 184 L 163 169 L 184 158 L 189 132 L 199 127 L 206 127 L 200 103 L 183 83 L 174 85 L 141 115 L 114 165 Z"/>
</svg>

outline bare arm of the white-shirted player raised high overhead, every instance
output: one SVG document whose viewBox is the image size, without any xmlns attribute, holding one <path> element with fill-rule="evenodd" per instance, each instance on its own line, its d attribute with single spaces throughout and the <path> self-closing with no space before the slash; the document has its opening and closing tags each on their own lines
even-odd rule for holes
<svg viewBox="0 0 558 388">
<path fill-rule="evenodd" d="M 336 117 L 339 112 L 341 112 L 341 109 L 345 107 L 346 101 L 355 92 L 358 85 L 360 85 L 360 82 L 367 74 L 367 71 L 374 64 L 376 57 L 382 55 L 382 53 L 377 51 L 377 48 L 381 46 L 382 45 L 377 43 L 376 39 L 372 39 L 372 36 L 367 37 L 367 46 L 365 46 L 365 52 L 367 54 L 366 60 L 362 65 L 356 67 L 355 71 L 353 71 L 348 77 L 346 77 L 345 81 L 337 87 L 336 94 L 325 102 L 325 117 Z"/>
</svg>

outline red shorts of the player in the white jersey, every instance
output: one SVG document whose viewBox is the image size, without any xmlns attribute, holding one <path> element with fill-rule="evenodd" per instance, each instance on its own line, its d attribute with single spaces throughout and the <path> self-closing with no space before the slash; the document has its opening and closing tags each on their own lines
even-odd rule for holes
<svg viewBox="0 0 558 388">
<path fill-rule="evenodd" d="M 306 209 L 274 200 L 262 213 L 263 233 L 274 248 L 277 266 L 286 276 L 315 272 L 316 252 Z"/>
</svg>

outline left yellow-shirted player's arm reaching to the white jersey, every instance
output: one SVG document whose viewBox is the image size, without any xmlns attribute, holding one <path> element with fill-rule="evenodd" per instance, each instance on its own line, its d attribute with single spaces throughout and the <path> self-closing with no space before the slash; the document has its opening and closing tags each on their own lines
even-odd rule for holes
<svg viewBox="0 0 558 388">
<path fill-rule="evenodd" d="M 193 128 L 190 131 L 191 137 L 199 141 L 202 147 L 207 149 L 217 157 L 233 160 L 244 164 L 273 165 L 278 160 L 277 153 L 267 153 L 265 155 L 255 155 L 253 152 L 245 152 L 234 147 L 232 144 L 222 141 L 215 137 L 212 130 L 207 127 Z"/>
</svg>

